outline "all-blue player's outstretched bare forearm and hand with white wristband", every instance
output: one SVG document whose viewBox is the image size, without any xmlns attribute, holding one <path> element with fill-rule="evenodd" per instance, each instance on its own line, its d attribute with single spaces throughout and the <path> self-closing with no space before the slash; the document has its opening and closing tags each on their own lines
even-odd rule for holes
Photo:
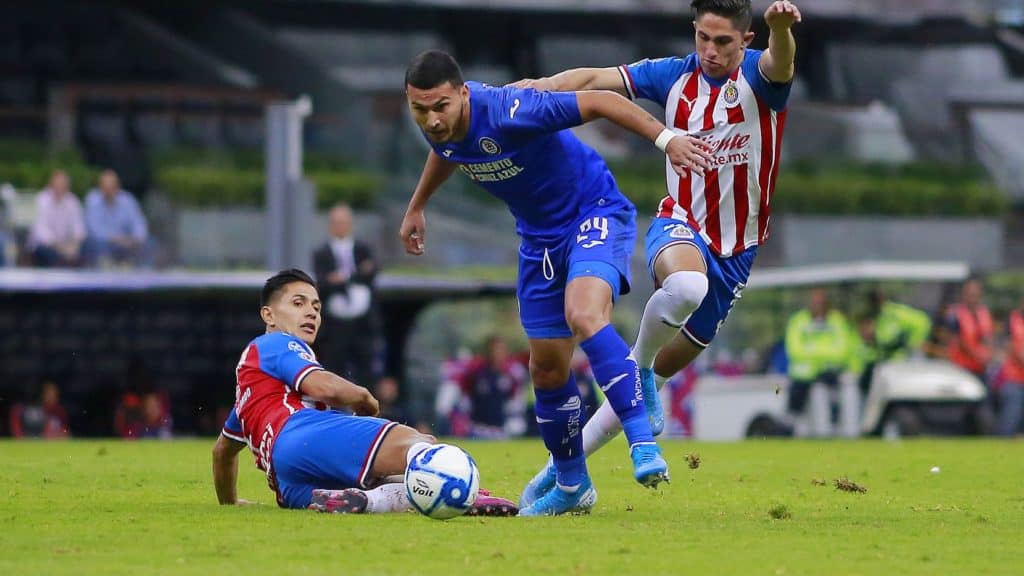
<svg viewBox="0 0 1024 576">
<path fill-rule="evenodd" d="M 702 141 L 669 130 L 647 111 L 621 94 L 607 90 L 577 92 L 577 104 L 584 122 L 605 118 L 654 142 L 680 174 L 685 170 L 711 168 L 712 157 Z"/>
</svg>

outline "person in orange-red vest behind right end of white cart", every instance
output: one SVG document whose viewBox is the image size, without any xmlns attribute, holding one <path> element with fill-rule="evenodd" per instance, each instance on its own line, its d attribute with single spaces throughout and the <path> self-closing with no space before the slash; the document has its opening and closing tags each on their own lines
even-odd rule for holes
<svg viewBox="0 0 1024 576">
<path fill-rule="evenodd" d="M 946 313 L 946 352 L 950 362 L 987 383 L 986 371 L 992 360 L 995 326 L 992 315 L 982 302 L 983 297 L 981 280 L 971 278 L 964 283 L 959 301 Z"/>
</svg>

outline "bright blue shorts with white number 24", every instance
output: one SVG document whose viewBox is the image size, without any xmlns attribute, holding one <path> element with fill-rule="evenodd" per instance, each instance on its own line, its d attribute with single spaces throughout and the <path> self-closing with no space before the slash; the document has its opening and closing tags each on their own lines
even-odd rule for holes
<svg viewBox="0 0 1024 576">
<path fill-rule="evenodd" d="M 612 300 L 630 291 L 630 257 L 636 243 L 636 209 L 594 210 L 568 234 L 519 246 L 516 296 L 529 338 L 568 338 L 565 287 L 575 278 L 596 277 L 611 287 Z"/>
</svg>

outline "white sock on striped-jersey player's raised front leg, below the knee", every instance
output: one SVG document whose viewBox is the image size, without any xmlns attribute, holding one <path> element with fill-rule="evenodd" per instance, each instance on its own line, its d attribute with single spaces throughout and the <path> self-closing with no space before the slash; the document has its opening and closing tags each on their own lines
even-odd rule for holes
<svg viewBox="0 0 1024 576">
<path fill-rule="evenodd" d="M 707 294 L 708 277 L 699 272 L 675 272 L 665 279 L 647 299 L 633 345 L 633 357 L 641 368 L 654 365 L 657 351 L 676 336 Z"/>
</svg>

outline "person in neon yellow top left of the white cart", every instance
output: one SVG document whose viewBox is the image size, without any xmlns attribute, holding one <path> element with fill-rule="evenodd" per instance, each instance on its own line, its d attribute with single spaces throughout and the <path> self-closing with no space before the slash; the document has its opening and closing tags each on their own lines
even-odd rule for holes
<svg viewBox="0 0 1024 576">
<path fill-rule="evenodd" d="M 831 307 L 828 292 L 823 288 L 812 290 L 808 307 L 793 315 L 785 328 L 785 354 L 793 382 L 787 406 L 791 418 L 802 424 L 799 419 L 805 413 L 813 384 L 820 382 L 835 389 L 843 372 L 858 368 L 856 353 L 860 345 L 843 313 Z M 805 434 L 803 429 L 797 431 L 798 436 Z"/>
</svg>

